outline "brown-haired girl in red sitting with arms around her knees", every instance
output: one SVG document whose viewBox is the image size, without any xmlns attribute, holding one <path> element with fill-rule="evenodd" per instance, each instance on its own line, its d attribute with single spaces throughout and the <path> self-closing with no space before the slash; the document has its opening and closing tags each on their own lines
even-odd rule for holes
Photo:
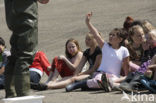
<svg viewBox="0 0 156 103">
<path fill-rule="evenodd" d="M 76 67 L 79 65 L 83 53 L 77 40 L 70 38 L 65 44 L 65 54 L 55 57 L 51 65 L 51 73 L 46 83 L 32 85 L 32 89 L 46 90 L 63 88 L 66 80 L 74 76 Z M 61 76 L 61 79 L 59 79 Z"/>
</svg>

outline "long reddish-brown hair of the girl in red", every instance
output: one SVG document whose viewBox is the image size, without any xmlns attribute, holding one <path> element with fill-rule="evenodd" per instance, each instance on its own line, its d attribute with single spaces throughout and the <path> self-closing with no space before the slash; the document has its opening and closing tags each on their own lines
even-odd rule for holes
<svg viewBox="0 0 156 103">
<path fill-rule="evenodd" d="M 70 39 L 67 40 L 67 42 L 66 42 L 66 44 L 65 44 L 65 54 L 66 54 L 66 57 L 67 57 L 67 58 L 70 58 L 70 59 L 71 59 L 73 56 L 68 52 L 68 49 L 67 49 L 67 45 L 68 45 L 69 42 L 75 43 L 75 45 L 76 45 L 78 51 L 81 51 L 81 48 L 80 48 L 79 43 L 78 43 L 77 40 L 75 40 L 75 39 L 73 39 L 73 38 L 70 38 Z M 77 51 L 77 53 L 78 53 L 78 51 Z M 76 53 L 76 54 L 77 54 L 77 53 Z"/>
</svg>

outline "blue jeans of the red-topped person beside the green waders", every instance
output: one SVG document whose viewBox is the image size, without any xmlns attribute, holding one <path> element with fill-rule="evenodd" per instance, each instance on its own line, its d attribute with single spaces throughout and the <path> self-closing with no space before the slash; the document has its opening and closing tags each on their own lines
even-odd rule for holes
<svg viewBox="0 0 156 103">
<path fill-rule="evenodd" d="M 41 80 L 41 76 L 37 72 L 30 71 L 30 82 L 39 83 L 40 80 Z"/>
</svg>

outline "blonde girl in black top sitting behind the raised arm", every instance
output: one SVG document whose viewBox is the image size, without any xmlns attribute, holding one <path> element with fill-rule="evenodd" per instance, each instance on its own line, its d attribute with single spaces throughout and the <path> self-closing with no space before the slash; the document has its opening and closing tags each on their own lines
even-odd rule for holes
<svg viewBox="0 0 156 103">
<path fill-rule="evenodd" d="M 76 70 L 75 74 L 78 74 L 79 72 L 82 71 L 82 68 L 87 61 L 89 62 L 89 69 L 87 71 L 79 73 L 77 76 L 92 75 L 97 70 L 97 68 L 101 63 L 102 51 L 101 48 L 98 46 L 94 36 L 91 33 L 88 33 L 86 35 L 85 43 L 86 46 L 88 46 L 89 48 L 84 51 L 83 58 L 79 66 L 77 67 L 78 69 Z"/>
</svg>

